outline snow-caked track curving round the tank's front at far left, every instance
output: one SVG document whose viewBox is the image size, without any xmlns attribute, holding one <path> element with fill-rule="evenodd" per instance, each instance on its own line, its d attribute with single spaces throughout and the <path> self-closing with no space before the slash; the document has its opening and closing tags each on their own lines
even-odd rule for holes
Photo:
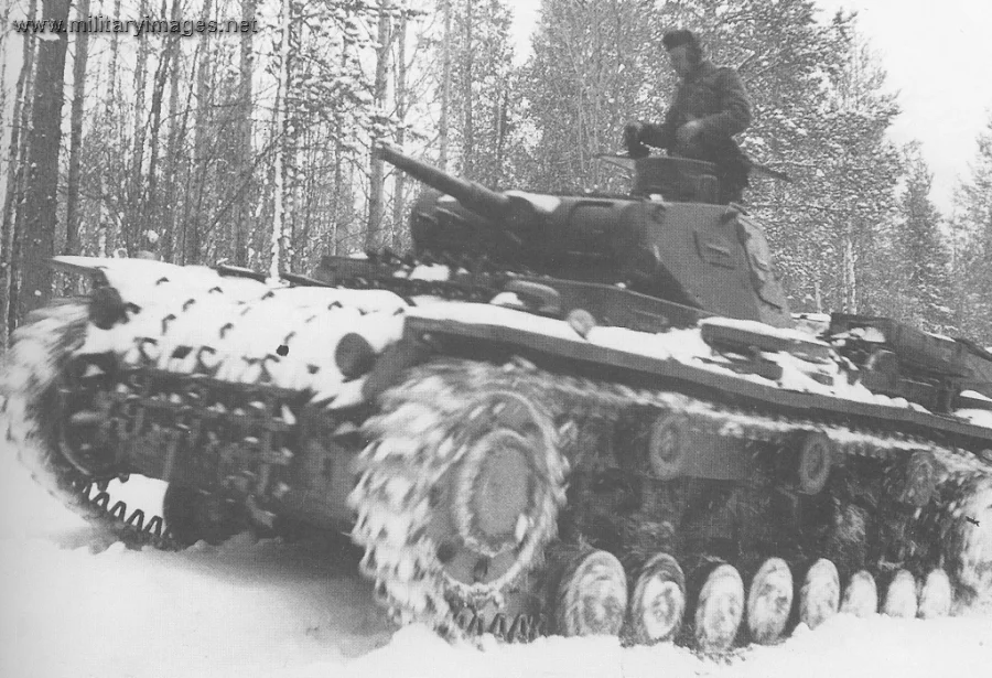
<svg viewBox="0 0 992 678">
<path fill-rule="evenodd" d="M 36 483 L 100 531 L 128 547 L 177 549 L 180 545 L 165 529 L 162 516 L 114 501 L 111 482 L 127 482 L 127 475 L 93 476 L 57 454 L 51 417 L 56 384 L 83 345 L 88 323 L 86 302 L 62 300 L 34 311 L 18 329 L 0 380 L 4 437 Z"/>
</svg>

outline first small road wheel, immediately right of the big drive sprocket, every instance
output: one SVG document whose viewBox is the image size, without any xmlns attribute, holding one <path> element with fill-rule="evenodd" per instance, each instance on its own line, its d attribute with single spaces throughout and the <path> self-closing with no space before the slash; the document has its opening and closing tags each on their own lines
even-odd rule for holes
<svg viewBox="0 0 992 678">
<path fill-rule="evenodd" d="M 556 603 L 559 634 L 619 635 L 627 610 L 624 567 L 607 551 L 580 552 L 564 566 Z"/>
</svg>

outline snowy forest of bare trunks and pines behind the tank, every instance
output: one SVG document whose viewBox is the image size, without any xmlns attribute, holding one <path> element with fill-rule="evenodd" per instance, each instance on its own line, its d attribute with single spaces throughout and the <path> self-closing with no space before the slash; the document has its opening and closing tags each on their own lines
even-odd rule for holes
<svg viewBox="0 0 992 678">
<path fill-rule="evenodd" d="M 992 119 L 951 214 L 858 18 L 810 0 L 542 0 L 515 57 L 502 0 L 20 0 L 14 20 L 237 20 L 225 34 L 7 30 L 0 342 L 61 287 L 56 254 L 309 273 L 409 247 L 419 186 L 380 140 L 493 189 L 619 191 L 596 160 L 675 86 L 661 35 L 694 29 L 752 97 L 743 134 L 794 311 L 876 313 L 992 344 Z M 11 50 L 17 47 L 17 50 Z M 12 69 L 17 68 L 14 74 Z M 2 347 L 2 346 L 0 346 Z"/>
</svg>

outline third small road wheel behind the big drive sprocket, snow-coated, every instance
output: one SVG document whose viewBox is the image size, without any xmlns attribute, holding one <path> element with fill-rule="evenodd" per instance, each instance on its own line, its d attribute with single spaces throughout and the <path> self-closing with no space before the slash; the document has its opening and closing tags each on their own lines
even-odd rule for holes
<svg viewBox="0 0 992 678">
<path fill-rule="evenodd" d="M 736 568 L 720 564 L 707 577 L 696 605 L 696 644 L 707 653 L 731 648 L 744 617 L 744 581 Z"/>
</svg>

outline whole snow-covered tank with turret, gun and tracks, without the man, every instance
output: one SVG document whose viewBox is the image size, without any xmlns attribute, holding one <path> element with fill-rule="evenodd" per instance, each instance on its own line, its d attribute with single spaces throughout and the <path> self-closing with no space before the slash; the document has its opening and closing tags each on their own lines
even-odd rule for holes
<svg viewBox="0 0 992 678">
<path fill-rule="evenodd" d="M 713 168 L 630 195 L 430 190 L 414 252 L 271 286 L 58 257 L 2 380 L 35 477 L 122 539 L 347 530 L 400 623 L 710 652 L 992 593 L 992 355 L 794 318 Z M 163 515 L 115 501 L 168 483 Z"/>
</svg>

